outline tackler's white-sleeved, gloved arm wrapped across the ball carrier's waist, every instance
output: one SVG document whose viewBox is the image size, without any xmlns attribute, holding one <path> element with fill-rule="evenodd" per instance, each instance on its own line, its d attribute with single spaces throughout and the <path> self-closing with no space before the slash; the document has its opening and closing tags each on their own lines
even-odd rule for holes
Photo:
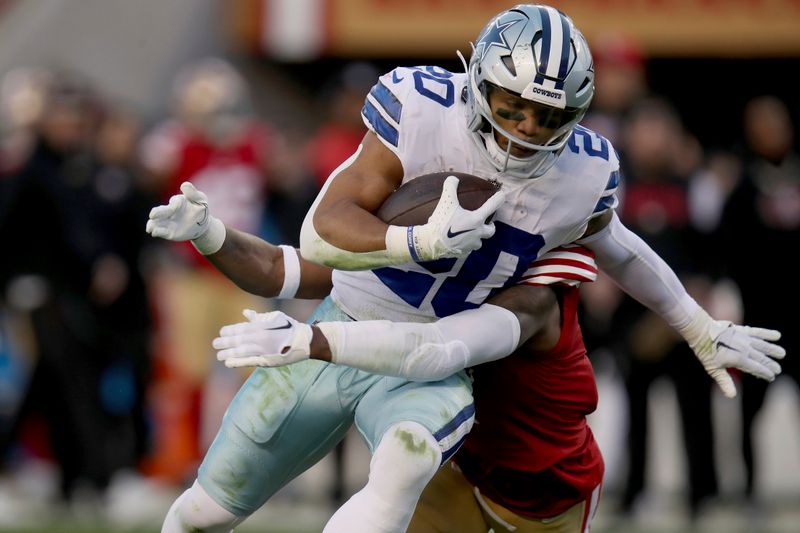
<svg viewBox="0 0 800 533">
<path fill-rule="evenodd" d="M 368 320 L 310 326 L 280 311 L 246 310 L 247 322 L 223 327 L 213 345 L 231 368 L 313 358 L 430 381 L 505 357 L 534 335 L 546 347 L 557 342 L 560 311 L 550 287 L 515 286 L 491 302 L 429 324 Z"/>
</svg>

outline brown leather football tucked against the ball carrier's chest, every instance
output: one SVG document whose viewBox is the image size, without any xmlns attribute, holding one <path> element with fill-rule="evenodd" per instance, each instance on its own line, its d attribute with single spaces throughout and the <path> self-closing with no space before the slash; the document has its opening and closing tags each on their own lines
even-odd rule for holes
<svg viewBox="0 0 800 533">
<path fill-rule="evenodd" d="M 447 176 L 458 178 L 458 202 L 470 211 L 482 206 L 500 188 L 495 181 L 463 172 L 424 174 L 394 191 L 378 209 L 378 218 L 395 226 L 425 224 L 439 203 Z"/>
</svg>

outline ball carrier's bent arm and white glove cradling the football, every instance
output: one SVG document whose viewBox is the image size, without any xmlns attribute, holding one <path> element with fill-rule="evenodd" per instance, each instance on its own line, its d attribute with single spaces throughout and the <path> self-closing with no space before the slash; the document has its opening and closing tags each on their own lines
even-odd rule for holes
<svg viewBox="0 0 800 533">
<path fill-rule="evenodd" d="M 306 215 L 300 232 L 303 257 L 340 270 L 367 270 L 456 257 L 476 250 L 494 234 L 494 223 L 486 220 L 503 203 L 504 193 L 466 210 L 458 202 L 457 178 L 448 178 L 426 224 L 386 224 L 374 213 L 402 179 L 397 156 L 367 133 L 358 151 L 328 178 Z"/>
</svg>

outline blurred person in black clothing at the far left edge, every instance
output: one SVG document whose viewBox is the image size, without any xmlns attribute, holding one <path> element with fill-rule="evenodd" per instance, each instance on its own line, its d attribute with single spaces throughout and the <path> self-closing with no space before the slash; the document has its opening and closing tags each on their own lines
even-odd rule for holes
<svg viewBox="0 0 800 533">
<path fill-rule="evenodd" d="M 30 320 L 34 360 L 2 454 L 8 458 L 30 415 L 41 413 L 61 467 L 64 498 L 89 468 L 87 454 L 97 452 L 99 430 L 96 402 L 89 398 L 96 389 L 87 371 L 93 359 L 85 330 L 89 269 L 79 249 L 81 206 L 71 187 L 88 173 L 91 111 L 82 83 L 64 78 L 48 84 L 30 156 L 4 179 L 0 196 L 0 237 L 14 250 L 0 265 L 0 286 L 9 309 Z"/>
</svg>

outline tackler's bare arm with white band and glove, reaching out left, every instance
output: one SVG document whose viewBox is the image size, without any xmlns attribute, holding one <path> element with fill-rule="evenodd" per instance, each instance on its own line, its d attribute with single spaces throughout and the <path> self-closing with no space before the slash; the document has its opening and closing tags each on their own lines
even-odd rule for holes
<svg viewBox="0 0 800 533">
<path fill-rule="evenodd" d="M 331 289 L 329 268 L 303 260 L 291 246 L 275 246 L 226 227 L 211 214 L 206 195 L 190 182 L 167 205 L 150 211 L 145 229 L 153 237 L 192 241 L 220 272 L 252 294 L 323 298 Z"/>
</svg>

